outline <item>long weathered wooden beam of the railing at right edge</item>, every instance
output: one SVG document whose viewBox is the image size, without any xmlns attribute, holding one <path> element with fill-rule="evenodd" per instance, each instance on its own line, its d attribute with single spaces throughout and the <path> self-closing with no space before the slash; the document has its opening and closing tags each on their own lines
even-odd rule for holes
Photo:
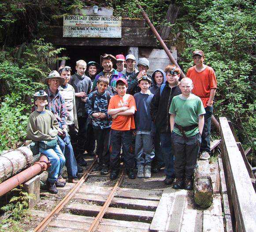
<svg viewBox="0 0 256 232">
<path fill-rule="evenodd" d="M 229 123 L 224 117 L 219 119 L 222 153 L 230 183 L 237 229 L 241 232 L 254 231 L 256 228 L 256 194 Z"/>
</svg>

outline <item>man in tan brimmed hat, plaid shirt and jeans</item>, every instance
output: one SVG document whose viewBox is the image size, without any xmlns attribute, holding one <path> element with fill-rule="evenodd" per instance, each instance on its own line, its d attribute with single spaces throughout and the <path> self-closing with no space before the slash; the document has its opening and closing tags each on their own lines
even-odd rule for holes
<svg viewBox="0 0 256 232">
<path fill-rule="evenodd" d="M 68 180 L 71 183 L 77 183 L 78 167 L 74 158 L 70 137 L 67 134 L 67 107 L 65 99 L 61 96 L 58 89 L 64 82 L 65 78 L 61 77 L 56 70 L 53 70 L 49 76 L 45 78 L 45 84 L 48 85 L 45 89 L 45 92 L 48 94 L 48 106 L 46 109 L 52 111 L 59 122 L 58 135 L 60 139 L 58 140 L 58 144 L 66 158 Z M 59 176 L 58 180 L 62 183 L 66 183 L 66 180 L 61 176 Z"/>
</svg>

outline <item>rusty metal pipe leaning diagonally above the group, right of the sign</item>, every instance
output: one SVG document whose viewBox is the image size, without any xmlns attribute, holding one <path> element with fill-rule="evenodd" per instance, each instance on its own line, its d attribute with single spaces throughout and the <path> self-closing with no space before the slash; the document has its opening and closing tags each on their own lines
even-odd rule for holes
<svg viewBox="0 0 256 232">
<path fill-rule="evenodd" d="M 186 77 L 185 74 L 182 72 L 182 69 L 180 68 L 180 66 L 178 65 L 176 60 L 174 59 L 174 57 L 171 55 L 170 50 L 167 48 L 166 44 L 163 42 L 163 39 L 160 37 L 160 34 L 157 32 L 156 28 L 153 26 L 152 22 L 148 18 L 148 15 L 146 14 L 146 12 L 143 10 L 143 8 L 141 7 L 141 5 L 138 3 L 137 0 L 136 0 L 136 3 L 137 3 L 137 7 L 141 10 L 141 14 L 143 15 L 143 17 L 145 18 L 146 22 L 148 23 L 148 26 L 150 27 L 150 29 L 152 30 L 152 32 L 156 36 L 157 40 L 160 42 L 163 50 L 166 52 L 166 54 L 168 55 L 168 57 L 171 60 L 171 62 L 173 64 L 175 64 L 177 67 L 179 67 L 179 69 L 181 70 L 181 77 L 182 78 Z"/>
</svg>

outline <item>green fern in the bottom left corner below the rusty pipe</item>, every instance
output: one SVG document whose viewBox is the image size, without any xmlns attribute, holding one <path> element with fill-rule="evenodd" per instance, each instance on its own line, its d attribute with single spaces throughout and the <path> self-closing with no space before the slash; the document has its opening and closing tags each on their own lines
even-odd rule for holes
<svg viewBox="0 0 256 232">
<path fill-rule="evenodd" d="M 35 198 L 35 195 L 28 194 L 18 188 L 14 188 L 11 191 L 17 191 L 19 196 L 12 197 L 7 205 L 1 207 L 1 210 L 4 210 L 7 214 L 11 214 L 11 217 L 1 221 L 0 231 L 23 232 L 24 230 L 20 228 L 19 223 L 25 217 L 30 217 L 28 203 L 29 199 Z"/>
</svg>

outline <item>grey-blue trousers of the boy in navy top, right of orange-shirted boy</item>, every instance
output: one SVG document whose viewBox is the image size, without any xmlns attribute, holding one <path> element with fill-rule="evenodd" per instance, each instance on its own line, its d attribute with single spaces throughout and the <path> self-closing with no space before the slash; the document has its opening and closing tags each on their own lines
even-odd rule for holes
<svg viewBox="0 0 256 232">
<path fill-rule="evenodd" d="M 147 134 L 136 135 L 135 157 L 137 160 L 137 168 L 141 165 L 151 166 L 152 158 L 154 157 L 153 138 L 151 135 L 147 135 Z"/>
</svg>

